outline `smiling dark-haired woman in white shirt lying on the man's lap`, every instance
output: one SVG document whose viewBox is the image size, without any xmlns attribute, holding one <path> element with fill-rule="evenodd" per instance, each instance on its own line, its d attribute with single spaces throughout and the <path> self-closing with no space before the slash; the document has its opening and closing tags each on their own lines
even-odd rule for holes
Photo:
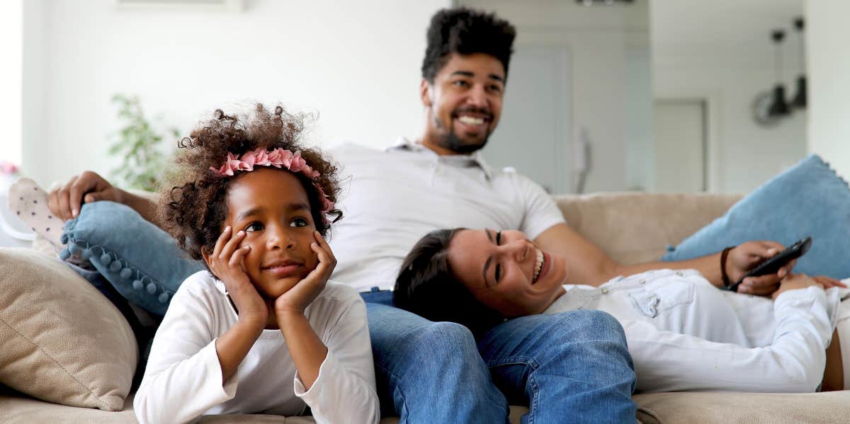
<svg viewBox="0 0 850 424">
<path fill-rule="evenodd" d="M 734 274 L 750 268 L 761 244 L 724 252 L 722 274 L 728 263 Z M 789 274 L 771 301 L 717 290 L 694 269 L 648 271 L 598 287 L 565 285 L 569 273 L 564 257 L 519 231 L 436 230 L 405 258 L 394 301 L 473 331 L 522 315 L 602 310 L 623 326 L 643 392 L 850 387 L 850 369 L 842 371 L 842 362 L 850 364 L 850 301 L 841 302 L 847 290 L 836 280 Z"/>
</svg>

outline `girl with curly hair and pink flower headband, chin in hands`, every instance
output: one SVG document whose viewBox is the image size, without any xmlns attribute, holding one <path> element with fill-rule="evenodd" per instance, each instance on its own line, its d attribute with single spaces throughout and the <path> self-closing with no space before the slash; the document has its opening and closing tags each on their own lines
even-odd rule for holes
<svg viewBox="0 0 850 424">
<path fill-rule="evenodd" d="M 174 295 L 133 401 L 141 423 L 205 414 L 377 422 L 365 304 L 328 281 L 336 167 L 297 144 L 303 116 L 257 105 L 180 142 L 161 220 L 207 270 Z"/>
</svg>

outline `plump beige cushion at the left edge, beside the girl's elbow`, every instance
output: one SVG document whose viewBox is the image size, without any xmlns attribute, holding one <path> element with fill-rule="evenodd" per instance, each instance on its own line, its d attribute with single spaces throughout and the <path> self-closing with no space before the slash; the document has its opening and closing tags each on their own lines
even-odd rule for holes
<svg viewBox="0 0 850 424">
<path fill-rule="evenodd" d="M 58 259 L 0 248 L 0 382 L 57 404 L 122 410 L 138 347 L 122 314 Z"/>
</svg>

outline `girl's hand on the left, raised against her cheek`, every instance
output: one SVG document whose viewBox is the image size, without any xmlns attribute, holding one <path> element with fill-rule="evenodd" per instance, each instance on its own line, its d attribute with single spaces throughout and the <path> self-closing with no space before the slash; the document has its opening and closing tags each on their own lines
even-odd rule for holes
<svg viewBox="0 0 850 424">
<path fill-rule="evenodd" d="M 265 326 L 269 319 L 269 307 L 263 297 L 260 297 L 257 288 L 251 284 L 243 263 L 243 258 L 250 252 L 251 246 L 239 247 L 239 243 L 245 238 L 245 232 L 240 231 L 231 237 L 232 232 L 233 229 L 227 226 L 218 236 L 212 255 L 204 255 L 204 259 L 207 260 L 212 274 L 224 283 L 239 311 L 239 320 Z"/>
</svg>

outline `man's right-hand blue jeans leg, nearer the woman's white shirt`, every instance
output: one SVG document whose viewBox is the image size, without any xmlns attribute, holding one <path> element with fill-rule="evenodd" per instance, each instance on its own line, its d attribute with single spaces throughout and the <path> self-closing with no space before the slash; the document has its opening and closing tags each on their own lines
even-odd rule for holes
<svg viewBox="0 0 850 424">
<path fill-rule="evenodd" d="M 600 311 L 531 315 L 479 338 L 493 382 L 523 424 L 635 422 L 635 373 L 617 320 Z"/>
</svg>

